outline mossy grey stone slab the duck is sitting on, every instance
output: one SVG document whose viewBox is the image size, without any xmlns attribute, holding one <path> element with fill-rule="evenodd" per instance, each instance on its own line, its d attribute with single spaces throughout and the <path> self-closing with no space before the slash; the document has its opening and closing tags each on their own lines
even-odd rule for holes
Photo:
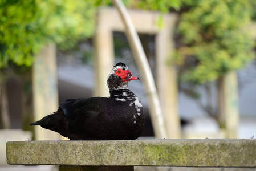
<svg viewBox="0 0 256 171">
<path fill-rule="evenodd" d="M 8 164 L 256 167 L 256 140 L 10 141 Z"/>
</svg>

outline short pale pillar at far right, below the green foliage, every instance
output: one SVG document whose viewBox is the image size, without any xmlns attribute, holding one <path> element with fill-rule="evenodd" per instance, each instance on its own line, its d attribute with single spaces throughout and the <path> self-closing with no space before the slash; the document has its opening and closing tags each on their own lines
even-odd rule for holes
<svg viewBox="0 0 256 171">
<path fill-rule="evenodd" d="M 239 125 L 237 74 L 230 71 L 218 79 L 218 123 L 226 138 L 237 138 Z"/>
</svg>

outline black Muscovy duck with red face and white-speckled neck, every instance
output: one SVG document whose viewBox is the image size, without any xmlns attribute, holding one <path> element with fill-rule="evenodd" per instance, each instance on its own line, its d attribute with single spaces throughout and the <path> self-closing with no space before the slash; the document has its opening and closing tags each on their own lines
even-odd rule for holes
<svg viewBox="0 0 256 171">
<path fill-rule="evenodd" d="M 110 97 L 67 99 L 58 111 L 30 125 L 60 133 L 70 140 L 135 140 L 144 129 L 143 105 L 128 89 L 132 76 L 124 63 L 108 75 Z"/>
</svg>

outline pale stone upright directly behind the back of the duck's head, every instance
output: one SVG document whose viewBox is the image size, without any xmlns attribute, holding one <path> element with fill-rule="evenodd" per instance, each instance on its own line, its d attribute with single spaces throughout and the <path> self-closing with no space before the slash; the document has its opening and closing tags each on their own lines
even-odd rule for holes
<svg viewBox="0 0 256 171">
<path fill-rule="evenodd" d="M 108 15 L 97 15 L 97 29 L 94 35 L 94 71 L 95 88 L 94 96 L 109 96 L 107 77 L 115 65 L 115 54 L 113 47 L 113 34 L 111 27 L 107 25 Z"/>
</svg>

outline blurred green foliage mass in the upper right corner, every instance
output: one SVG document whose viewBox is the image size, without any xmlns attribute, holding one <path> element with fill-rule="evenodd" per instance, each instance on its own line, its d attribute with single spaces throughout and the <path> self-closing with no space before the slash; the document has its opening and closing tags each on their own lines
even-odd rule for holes
<svg viewBox="0 0 256 171">
<path fill-rule="evenodd" d="M 182 1 L 176 54 L 181 79 L 212 81 L 253 59 L 254 40 L 246 28 L 253 10 L 246 0 Z"/>
</svg>

